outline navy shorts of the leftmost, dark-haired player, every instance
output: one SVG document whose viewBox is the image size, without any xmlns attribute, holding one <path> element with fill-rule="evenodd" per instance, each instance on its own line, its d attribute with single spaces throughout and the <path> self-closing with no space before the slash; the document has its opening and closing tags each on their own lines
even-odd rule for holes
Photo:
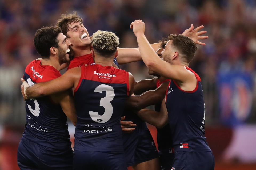
<svg viewBox="0 0 256 170">
<path fill-rule="evenodd" d="M 18 166 L 23 169 L 72 169 L 73 151 L 56 150 L 21 139 L 17 153 Z"/>
</svg>

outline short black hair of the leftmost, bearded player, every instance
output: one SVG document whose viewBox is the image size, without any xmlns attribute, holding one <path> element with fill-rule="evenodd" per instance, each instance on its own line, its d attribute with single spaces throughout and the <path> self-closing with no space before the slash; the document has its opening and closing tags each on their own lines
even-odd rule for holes
<svg viewBox="0 0 256 170">
<path fill-rule="evenodd" d="M 43 27 L 37 30 L 34 35 L 34 45 L 42 58 L 50 57 L 51 47 L 59 47 L 57 40 L 59 33 L 62 33 L 62 31 L 58 26 Z"/>
</svg>

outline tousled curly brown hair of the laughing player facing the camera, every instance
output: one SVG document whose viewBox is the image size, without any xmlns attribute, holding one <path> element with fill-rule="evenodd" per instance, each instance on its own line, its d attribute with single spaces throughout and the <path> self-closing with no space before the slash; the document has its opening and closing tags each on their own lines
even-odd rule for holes
<svg viewBox="0 0 256 170">
<path fill-rule="evenodd" d="M 83 19 L 77 15 L 76 11 L 73 11 L 73 13 L 71 14 L 61 14 L 61 19 L 58 19 L 56 26 L 61 27 L 62 33 L 67 37 L 70 38 L 67 35 L 67 32 L 69 31 L 70 27 L 69 24 L 71 24 L 72 22 L 74 23 L 79 23 L 82 22 Z"/>
</svg>

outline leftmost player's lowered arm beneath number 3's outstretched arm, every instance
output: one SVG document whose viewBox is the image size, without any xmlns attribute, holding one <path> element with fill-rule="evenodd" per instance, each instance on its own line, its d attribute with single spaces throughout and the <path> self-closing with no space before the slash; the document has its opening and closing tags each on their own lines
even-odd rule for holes
<svg viewBox="0 0 256 170">
<path fill-rule="evenodd" d="M 59 103 L 63 112 L 75 126 L 77 123 L 77 114 L 75 111 L 74 96 L 71 90 L 62 93 L 53 94 L 51 98 L 54 102 Z"/>
</svg>

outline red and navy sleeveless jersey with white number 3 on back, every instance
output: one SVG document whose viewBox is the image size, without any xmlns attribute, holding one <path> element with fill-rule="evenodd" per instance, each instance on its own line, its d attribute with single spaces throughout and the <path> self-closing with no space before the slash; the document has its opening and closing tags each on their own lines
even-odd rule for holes
<svg viewBox="0 0 256 170">
<path fill-rule="evenodd" d="M 81 67 L 81 78 L 74 91 L 74 149 L 122 152 L 120 120 L 129 95 L 128 72 L 99 64 Z"/>
</svg>

